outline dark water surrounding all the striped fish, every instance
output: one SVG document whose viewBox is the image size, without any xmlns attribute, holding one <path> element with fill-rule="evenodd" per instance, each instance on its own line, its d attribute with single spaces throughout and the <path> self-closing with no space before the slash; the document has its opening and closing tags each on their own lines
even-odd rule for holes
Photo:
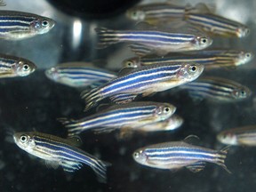
<svg viewBox="0 0 256 192">
<path fill-rule="evenodd" d="M 198 1 L 190 1 L 195 4 Z M 209 1 L 210 2 L 210 1 Z M 221 130 L 256 124 L 256 100 L 254 90 L 255 59 L 236 70 L 216 70 L 210 75 L 223 76 L 247 85 L 252 90 L 249 100 L 230 104 L 207 101 L 195 102 L 186 93 L 157 93 L 145 100 L 171 102 L 185 123 L 176 132 L 135 133 L 132 138 L 118 139 L 118 132 L 93 134 L 84 132 L 83 149 L 112 164 L 108 168 L 108 184 L 100 184 L 94 172 L 87 166 L 70 175 L 61 169 L 47 168 L 33 156 L 21 151 L 6 134 L 14 130 L 47 132 L 66 136 L 66 130 L 56 118 L 68 116 L 80 118 L 84 113 L 84 101 L 80 92 L 61 84 L 54 84 L 44 76 L 44 69 L 60 62 L 73 60 L 108 60 L 108 68 L 119 68 L 121 61 L 132 56 L 124 44 L 104 50 L 95 49 L 94 28 L 129 28 L 131 22 L 118 15 L 106 20 L 86 20 L 58 11 L 44 1 L 7 1 L 1 9 L 35 12 L 57 21 L 48 34 L 19 42 L 1 41 L 0 52 L 32 60 L 38 66 L 34 74 L 26 78 L 1 79 L 0 81 L 0 191 L 252 191 L 255 188 L 255 148 L 230 148 L 227 157 L 228 174 L 215 164 L 207 164 L 198 173 L 182 169 L 179 172 L 156 170 L 136 164 L 132 152 L 140 147 L 158 142 L 182 140 L 196 134 L 198 145 L 222 148 L 216 140 Z M 28 6 L 28 4 L 30 4 Z M 254 1 L 217 1 L 217 12 L 251 28 L 251 34 L 243 39 L 216 38 L 212 47 L 255 50 Z M 45 8 L 44 8 L 45 7 Z M 44 9 L 43 9 L 44 8 Z M 81 28 L 81 30 L 79 29 Z M 255 52 L 254 52 L 255 54 Z"/>
</svg>

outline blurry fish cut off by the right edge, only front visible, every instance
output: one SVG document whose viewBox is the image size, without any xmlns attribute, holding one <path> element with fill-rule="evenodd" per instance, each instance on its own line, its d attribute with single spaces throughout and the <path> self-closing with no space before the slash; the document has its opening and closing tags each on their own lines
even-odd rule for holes
<svg viewBox="0 0 256 192">
<path fill-rule="evenodd" d="M 228 145 L 256 146 L 256 125 L 224 130 L 217 135 L 217 139 Z"/>
</svg>

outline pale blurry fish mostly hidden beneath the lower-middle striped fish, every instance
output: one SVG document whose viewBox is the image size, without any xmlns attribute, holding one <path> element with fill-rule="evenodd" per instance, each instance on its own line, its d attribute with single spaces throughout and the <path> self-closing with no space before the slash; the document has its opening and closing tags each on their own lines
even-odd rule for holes
<svg viewBox="0 0 256 192">
<path fill-rule="evenodd" d="M 140 126 L 136 130 L 141 132 L 162 132 L 176 130 L 183 124 L 183 119 L 178 115 L 172 115 L 164 121 L 159 121 L 155 124 L 147 124 Z"/>
</svg>

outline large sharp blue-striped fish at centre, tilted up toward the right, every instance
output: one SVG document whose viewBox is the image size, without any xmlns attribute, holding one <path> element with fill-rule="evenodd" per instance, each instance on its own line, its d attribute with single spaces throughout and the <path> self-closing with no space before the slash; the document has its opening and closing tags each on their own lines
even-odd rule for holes
<svg viewBox="0 0 256 192">
<path fill-rule="evenodd" d="M 100 100 L 110 98 L 118 103 L 131 102 L 138 95 L 148 96 L 163 92 L 180 84 L 195 80 L 204 71 L 204 66 L 196 63 L 155 64 L 140 68 L 124 68 L 119 76 L 106 84 L 81 92 L 85 100 L 85 110 L 97 105 Z M 120 98 L 120 95 L 122 97 Z M 129 100 L 127 100 L 127 96 Z"/>
</svg>

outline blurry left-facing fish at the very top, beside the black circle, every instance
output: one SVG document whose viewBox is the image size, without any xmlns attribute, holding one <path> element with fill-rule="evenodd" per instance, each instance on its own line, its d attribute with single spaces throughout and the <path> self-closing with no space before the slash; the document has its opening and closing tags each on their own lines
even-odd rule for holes
<svg viewBox="0 0 256 192">
<path fill-rule="evenodd" d="M 143 4 L 128 10 L 126 12 L 126 17 L 131 20 L 144 20 L 149 23 L 155 23 L 157 20 L 181 19 L 184 17 L 185 12 L 189 9 L 192 9 L 189 4 L 185 6 L 169 3 Z"/>
</svg>

